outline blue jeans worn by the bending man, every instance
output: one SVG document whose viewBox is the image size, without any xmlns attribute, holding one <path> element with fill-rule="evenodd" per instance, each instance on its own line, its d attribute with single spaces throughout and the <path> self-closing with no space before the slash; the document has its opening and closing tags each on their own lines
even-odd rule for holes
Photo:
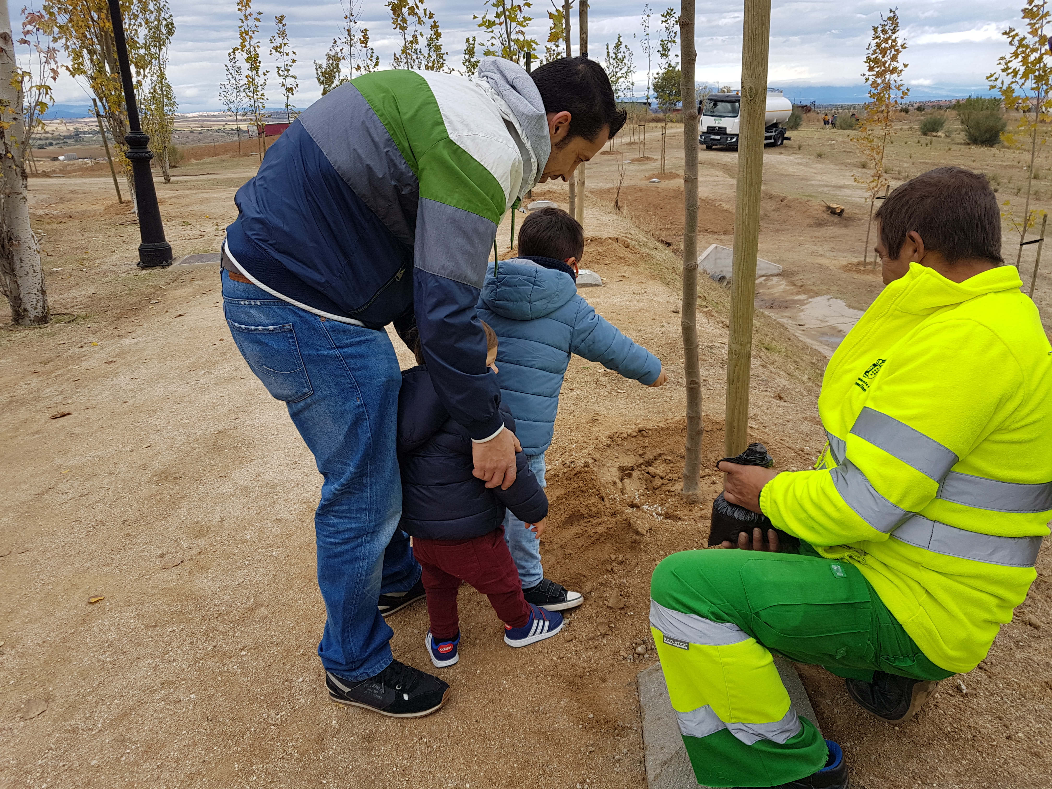
<svg viewBox="0 0 1052 789">
<path fill-rule="evenodd" d="M 420 578 L 398 528 L 402 482 L 396 456 L 402 385 L 386 331 L 327 321 L 222 272 L 223 309 L 238 350 L 288 406 L 313 452 L 322 494 L 315 513 L 318 586 L 325 632 L 318 654 L 329 671 L 364 680 L 391 662 L 393 631 L 380 594 Z"/>
</svg>

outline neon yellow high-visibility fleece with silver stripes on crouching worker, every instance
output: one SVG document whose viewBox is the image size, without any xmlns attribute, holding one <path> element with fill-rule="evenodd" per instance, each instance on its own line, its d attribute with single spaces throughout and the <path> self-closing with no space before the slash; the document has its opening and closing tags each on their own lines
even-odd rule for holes
<svg viewBox="0 0 1052 789">
<path fill-rule="evenodd" d="M 972 670 L 1026 598 L 1052 518 L 1052 347 L 1014 266 L 911 263 L 833 353 L 815 470 L 761 509 L 856 565 L 924 653 Z"/>
</svg>

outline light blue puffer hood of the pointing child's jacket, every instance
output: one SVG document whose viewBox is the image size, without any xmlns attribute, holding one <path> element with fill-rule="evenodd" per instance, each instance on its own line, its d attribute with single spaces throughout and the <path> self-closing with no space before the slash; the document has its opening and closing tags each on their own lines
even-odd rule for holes
<svg viewBox="0 0 1052 789">
<path fill-rule="evenodd" d="M 482 303 L 512 321 L 533 321 L 551 315 L 576 295 L 573 279 L 563 271 L 514 258 L 489 267 Z"/>
</svg>

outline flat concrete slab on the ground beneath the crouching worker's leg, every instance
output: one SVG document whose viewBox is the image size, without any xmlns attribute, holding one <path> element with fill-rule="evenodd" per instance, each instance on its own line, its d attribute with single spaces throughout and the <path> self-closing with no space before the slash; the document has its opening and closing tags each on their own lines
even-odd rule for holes
<svg viewBox="0 0 1052 789">
<path fill-rule="evenodd" d="M 781 658 L 774 666 L 789 691 L 789 699 L 796 707 L 796 714 L 818 726 L 814 708 L 792 664 Z M 661 664 L 645 668 L 636 674 L 640 689 L 640 707 L 643 710 L 643 751 L 646 758 L 647 786 L 649 789 L 697 789 L 700 784 L 690 766 L 687 749 L 680 736 L 680 725 L 668 700 L 665 675 Z M 702 787 L 702 789 L 706 789 Z"/>
</svg>

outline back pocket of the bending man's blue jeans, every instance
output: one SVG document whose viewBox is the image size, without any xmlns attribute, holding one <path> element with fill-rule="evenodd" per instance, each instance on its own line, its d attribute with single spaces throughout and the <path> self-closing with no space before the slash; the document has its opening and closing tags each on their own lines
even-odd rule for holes
<svg viewBox="0 0 1052 789">
<path fill-rule="evenodd" d="M 292 324 L 244 326 L 227 320 L 230 335 L 271 397 L 298 403 L 313 393 Z"/>
</svg>

